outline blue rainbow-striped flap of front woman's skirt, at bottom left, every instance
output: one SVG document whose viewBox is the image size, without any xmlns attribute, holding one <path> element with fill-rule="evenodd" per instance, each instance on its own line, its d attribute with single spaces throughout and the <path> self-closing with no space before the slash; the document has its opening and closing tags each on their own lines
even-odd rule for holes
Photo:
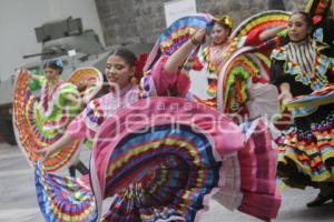
<svg viewBox="0 0 334 222">
<path fill-rule="evenodd" d="M 96 221 L 97 209 L 88 175 L 70 178 L 36 167 L 36 194 L 46 221 Z M 66 189 L 65 189 L 66 188 Z"/>
</svg>

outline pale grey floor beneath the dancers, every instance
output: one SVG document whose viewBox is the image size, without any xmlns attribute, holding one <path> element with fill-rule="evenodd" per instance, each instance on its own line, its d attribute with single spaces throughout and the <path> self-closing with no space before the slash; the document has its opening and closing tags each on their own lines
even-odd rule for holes
<svg viewBox="0 0 334 222">
<path fill-rule="evenodd" d="M 81 154 L 87 162 L 89 151 Z M 285 189 L 277 221 L 333 221 L 334 204 L 317 209 L 306 209 L 305 203 L 316 191 Z M 42 222 L 36 201 L 33 172 L 17 147 L 0 144 L 0 222 Z M 246 214 L 229 212 L 216 201 L 210 202 L 209 212 L 203 222 L 258 221 Z"/>
</svg>

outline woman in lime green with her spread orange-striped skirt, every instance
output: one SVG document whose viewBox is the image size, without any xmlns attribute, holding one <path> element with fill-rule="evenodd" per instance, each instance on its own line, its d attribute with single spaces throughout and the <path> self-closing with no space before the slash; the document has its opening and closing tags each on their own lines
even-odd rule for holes
<svg viewBox="0 0 334 222">
<path fill-rule="evenodd" d="M 17 77 L 13 105 L 16 137 L 32 165 L 38 159 L 36 151 L 57 141 L 82 110 L 77 87 L 61 79 L 62 69 L 60 59 L 48 60 L 43 64 L 45 75 L 20 70 Z M 28 88 L 29 79 L 41 85 L 39 99 Z M 76 141 L 63 148 L 63 152 L 55 154 L 46 163 L 47 170 L 58 170 L 67 165 L 72 157 L 77 157 L 69 167 L 70 175 L 75 176 L 76 170 L 81 174 L 88 173 L 88 169 L 78 159 L 78 145 L 79 141 Z"/>
</svg>

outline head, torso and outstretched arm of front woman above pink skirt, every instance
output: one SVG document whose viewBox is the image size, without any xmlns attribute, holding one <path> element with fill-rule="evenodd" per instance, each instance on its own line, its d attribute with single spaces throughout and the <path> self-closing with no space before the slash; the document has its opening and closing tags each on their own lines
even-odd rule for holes
<svg viewBox="0 0 334 222">
<path fill-rule="evenodd" d="M 124 48 L 111 53 L 105 70 L 109 92 L 88 103 L 87 108 L 68 127 L 63 137 L 43 149 L 48 154 L 68 144 L 73 138 L 94 139 L 100 124 L 108 117 L 118 109 L 139 100 L 139 88 L 137 84 L 131 84 L 131 79 L 136 74 L 136 56 Z"/>
</svg>

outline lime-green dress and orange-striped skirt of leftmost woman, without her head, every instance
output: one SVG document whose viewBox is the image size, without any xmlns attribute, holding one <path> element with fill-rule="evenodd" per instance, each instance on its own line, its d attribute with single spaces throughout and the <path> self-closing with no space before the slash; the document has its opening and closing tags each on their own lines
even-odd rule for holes
<svg viewBox="0 0 334 222">
<path fill-rule="evenodd" d="M 81 107 L 68 102 L 65 94 L 81 97 L 88 102 L 101 89 L 104 78 L 95 68 L 87 67 L 76 70 L 69 82 L 61 82 L 51 97 L 37 98 L 29 89 L 30 72 L 19 70 L 14 82 L 13 128 L 19 148 L 29 164 L 36 165 L 40 157 L 36 150 L 55 143 L 62 137 L 66 127 L 80 112 Z M 82 85 L 82 83 L 88 85 Z M 76 87 L 84 87 L 80 92 Z M 45 87 L 42 90 L 46 90 Z M 80 93 L 80 94 L 79 94 Z M 43 164 L 47 171 L 56 171 L 70 164 L 78 153 L 79 140 L 53 153 Z"/>
</svg>

